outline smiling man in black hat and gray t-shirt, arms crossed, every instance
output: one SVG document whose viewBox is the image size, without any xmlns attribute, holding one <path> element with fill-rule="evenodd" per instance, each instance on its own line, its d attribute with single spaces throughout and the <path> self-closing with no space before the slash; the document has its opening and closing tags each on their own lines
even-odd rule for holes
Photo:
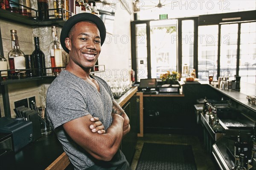
<svg viewBox="0 0 256 170">
<path fill-rule="evenodd" d="M 129 118 L 110 86 L 90 75 L 105 37 L 105 25 L 96 15 L 70 17 L 61 31 L 61 46 L 70 60 L 47 92 L 49 122 L 77 170 L 130 169 L 119 150 L 122 137 L 130 131 Z"/>
</svg>

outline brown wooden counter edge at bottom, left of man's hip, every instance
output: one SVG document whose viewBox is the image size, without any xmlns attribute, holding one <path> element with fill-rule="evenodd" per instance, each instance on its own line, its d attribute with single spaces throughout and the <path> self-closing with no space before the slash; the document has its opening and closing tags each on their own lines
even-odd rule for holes
<svg viewBox="0 0 256 170">
<path fill-rule="evenodd" d="M 67 154 L 63 152 L 45 170 L 64 170 L 69 164 L 70 164 L 70 160 Z"/>
</svg>

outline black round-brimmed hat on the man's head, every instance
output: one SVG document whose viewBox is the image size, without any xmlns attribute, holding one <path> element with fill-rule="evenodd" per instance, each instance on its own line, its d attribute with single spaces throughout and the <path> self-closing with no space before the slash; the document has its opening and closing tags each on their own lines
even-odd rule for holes
<svg viewBox="0 0 256 170">
<path fill-rule="evenodd" d="M 64 23 L 64 26 L 62 27 L 61 30 L 61 46 L 65 50 L 65 52 L 69 53 L 69 50 L 67 49 L 65 45 L 65 39 L 68 37 L 68 33 L 70 32 L 70 29 L 76 24 L 81 21 L 92 21 L 93 23 L 96 24 L 96 26 L 99 29 L 99 34 L 101 38 L 101 45 L 104 43 L 105 38 L 106 38 L 106 27 L 103 21 L 96 16 L 95 14 L 90 14 L 90 13 L 80 13 L 76 14 L 72 17 L 70 17 L 67 22 Z"/>
</svg>

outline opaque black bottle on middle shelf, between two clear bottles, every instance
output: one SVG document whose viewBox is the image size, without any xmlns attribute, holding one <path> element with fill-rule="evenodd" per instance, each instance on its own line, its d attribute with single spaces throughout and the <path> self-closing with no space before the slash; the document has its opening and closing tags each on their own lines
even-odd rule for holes
<svg viewBox="0 0 256 170">
<path fill-rule="evenodd" d="M 34 40 L 35 50 L 32 52 L 33 63 L 35 67 L 34 75 L 43 76 L 46 75 L 44 52 L 42 52 L 40 49 L 39 37 L 34 37 Z"/>
</svg>

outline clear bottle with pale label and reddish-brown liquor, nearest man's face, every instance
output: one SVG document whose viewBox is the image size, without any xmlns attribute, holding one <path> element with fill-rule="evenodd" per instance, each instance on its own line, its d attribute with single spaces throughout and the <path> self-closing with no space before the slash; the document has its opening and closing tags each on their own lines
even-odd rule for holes
<svg viewBox="0 0 256 170">
<path fill-rule="evenodd" d="M 52 75 L 58 76 L 61 72 L 62 67 L 62 54 L 61 54 L 61 44 L 58 42 L 56 27 L 52 26 L 52 42 L 50 43 L 50 57 L 52 66 Z"/>
</svg>

